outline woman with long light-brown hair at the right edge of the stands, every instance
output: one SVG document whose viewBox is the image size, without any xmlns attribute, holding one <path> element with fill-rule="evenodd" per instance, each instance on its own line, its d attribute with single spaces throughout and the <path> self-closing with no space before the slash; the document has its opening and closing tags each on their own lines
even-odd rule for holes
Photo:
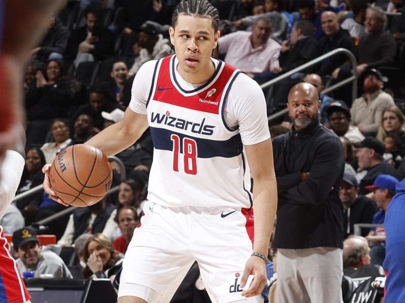
<svg viewBox="0 0 405 303">
<path fill-rule="evenodd" d="M 398 153 L 405 156 L 405 117 L 400 108 L 393 105 L 382 113 L 381 123 L 377 132 L 377 139 L 384 142 L 387 135 L 397 135 L 400 142 Z"/>
</svg>

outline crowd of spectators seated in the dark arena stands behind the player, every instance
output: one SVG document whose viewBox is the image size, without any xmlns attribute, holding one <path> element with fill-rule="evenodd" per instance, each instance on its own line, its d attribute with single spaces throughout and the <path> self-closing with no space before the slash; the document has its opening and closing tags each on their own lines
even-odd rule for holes
<svg viewBox="0 0 405 303">
<path fill-rule="evenodd" d="M 350 272 L 370 263 L 382 265 L 383 228 L 362 229 L 361 236 L 366 238 L 352 235 L 355 224 L 384 223 L 393 196 L 392 184 L 405 177 L 405 118 L 399 106 L 404 95 L 402 87 L 392 86 L 398 83 L 395 78 L 402 76 L 403 68 L 398 66 L 404 59 L 402 1 L 386 1 L 382 7 L 368 0 L 212 2 L 220 9 L 222 30 L 214 55 L 259 84 L 337 48 L 346 48 L 355 56 L 356 70 L 347 56 L 337 55 L 277 83 L 268 91 L 267 111 L 285 106 L 288 92 L 297 83 L 315 86 L 321 100 L 319 121 L 340 136 L 344 147 L 342 186 L 333 196 L 333 201 L 341 203 L 343 236 L 347 238 L 344 266 Z M 32 49 L 24 75 L 27 137 L 31 143 L 26 148 L 17 194 L 42 184 L 41 168 L 63 148 L 84 143 L 123 119 L 134 76 L 142 64 L 173 54 L 168 28 L 177 3 L 69 1 L 59 15 L 50 17 L 46 36 Z M 357 98 L 352 98 L 347 85 L 322 93 L 350 75 L 358 77 Z M 271 125 L 272 137 L 290 131 L 291 126 L 289 121 Z M 128 179 L 121 181 L 123 168 L 112 163 L 117 194 L 47 225 L 47 232 L 57 236 L 59 245 L 75 247 L 77 262 L 69 267 L 74 278 L 116 274 L 142 216 L 152 155 L 147 131 L 117 155 Z M 302 178 L 308 176 L 304 173 Z M 288 192 L 287 188 L 279 189 Z M 2 219 L 5 232 L 15 235 L 14 252 L 22 272 L 32 269 L 38 276 L 72 277 L 55 252 L 38 246 L 35 230 L 24 227 L 63 209 L 39 191 L 12 204 Z M 278 224 L 286 223 L 281 218 Z M 21 240 L 24 233 L 30 235 L 30 241 Z M 279 237 L 276 235 L 276 244 L 285 243 L 286 239 Z M 289 241 L 294 242 L 294 237 L 289 236 Z M 285 262 L 283 254 L 285 251 L 281 251 L 281 262 Z M 51 261 L 56 264 L 51 266 L 52 273 L 47 270 Z M 270 284 L 275 287 L 273 280 Z"/>
</svg>

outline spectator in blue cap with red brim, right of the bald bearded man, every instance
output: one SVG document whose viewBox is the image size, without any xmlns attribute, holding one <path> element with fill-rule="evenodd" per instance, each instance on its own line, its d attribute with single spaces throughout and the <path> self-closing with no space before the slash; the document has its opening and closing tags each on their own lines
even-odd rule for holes
<svg viewBox="0 0 405 303">
<path fill-rule="evenodd" d="M 381 210 L 373 217 L 373 224 L 384 224 L 385 213 L 388 204 L 395 195 L 395 186 L 398 184 L 398 179 L 390 175 L 379 175 L 373 185 L 366 186 L 367 189 L 374 190 L 374 199 L 377 207 Z M 383 265 L 385 258 L 385 229 L 384 227 L 372 228 L 369 235 L 366 237 L 369 244 L 373 245 L 370 255 L 372 264 Z"/>
</svg>

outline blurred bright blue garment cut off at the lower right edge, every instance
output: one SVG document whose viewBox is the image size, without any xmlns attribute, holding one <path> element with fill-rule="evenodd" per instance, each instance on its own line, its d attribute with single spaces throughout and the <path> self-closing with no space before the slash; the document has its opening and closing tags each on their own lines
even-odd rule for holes
<svg viewBox="0 0 405 303">
<path fill-rule="evenodd" d="M 384 227 L 387 233 L 385 246 L 386 256 L 384 270 L 387 273 L 385 281 L 385 302 L 403 302 L 405 298 L 405 179 L 396 186 L 396 194 L 392 198 L 385 217 Z"/>
</svg>

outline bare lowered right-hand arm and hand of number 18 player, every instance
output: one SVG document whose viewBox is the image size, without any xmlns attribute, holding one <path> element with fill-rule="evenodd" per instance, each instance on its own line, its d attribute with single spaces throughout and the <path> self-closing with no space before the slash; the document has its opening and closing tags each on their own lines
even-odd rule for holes
<svg viewBox="0 0 405 303">
<path fill-rule="evenodd" d="M 253 208 L 255 216 L 255 241 L 253 251 L 267 256 L 271 231 L 277 210 L 277 185 L 273 166 L 271 140 L 245 145 L 248 163 L 253 177 Z M 265 262 L 252 256 L 245 266 L 241 279 L 246 283 L 249 275 L 254 275 L 251 286 L 242 292 L 244 296 L 261 293 L 267 282 Z"/>
</svg>

